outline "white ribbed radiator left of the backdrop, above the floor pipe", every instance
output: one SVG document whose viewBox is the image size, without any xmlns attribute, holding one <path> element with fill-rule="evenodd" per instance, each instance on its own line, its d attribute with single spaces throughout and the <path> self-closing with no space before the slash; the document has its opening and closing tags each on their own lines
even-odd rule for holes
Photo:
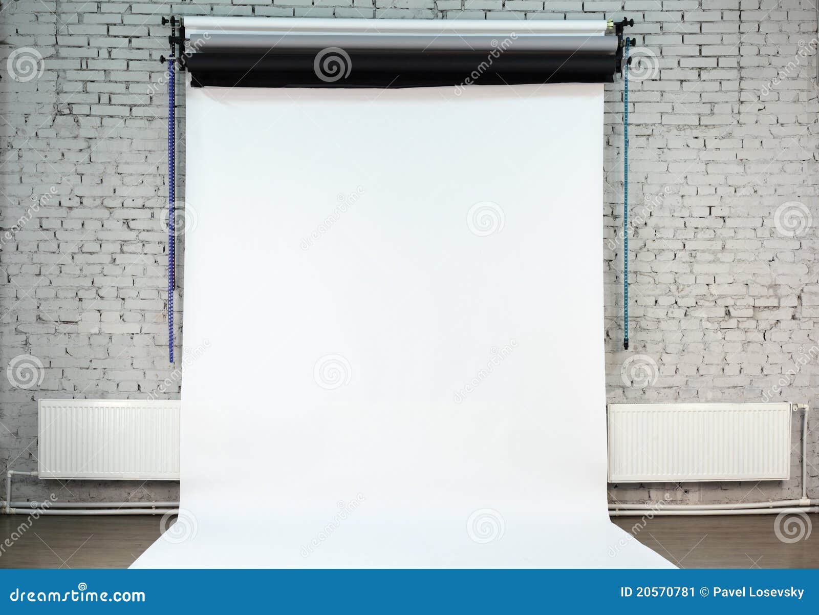
<svg viewBox="0 0 819 615">
<path fill-rule="evenodd" d="M 39 477 L 179 480 L 179 401 L 40 400 Z"/>
</svg>

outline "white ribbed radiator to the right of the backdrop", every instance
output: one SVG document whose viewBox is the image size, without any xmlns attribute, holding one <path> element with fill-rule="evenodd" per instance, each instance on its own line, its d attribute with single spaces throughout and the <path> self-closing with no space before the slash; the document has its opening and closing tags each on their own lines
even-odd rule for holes
<svg viewBox="0 0 819 615">
<path fill-rule="evenodd" d="M 609 482 L 790 478 L 790 404 L 611 404 Z"/>
</svg>

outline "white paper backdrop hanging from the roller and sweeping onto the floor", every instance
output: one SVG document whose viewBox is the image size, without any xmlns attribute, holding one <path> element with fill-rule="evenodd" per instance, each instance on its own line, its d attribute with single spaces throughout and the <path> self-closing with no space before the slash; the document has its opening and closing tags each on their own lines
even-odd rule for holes
<svg viewBox="0 0 819 615">
<path fill-rule="evenodd" d="M 670 566 L 606 511 L 602 127 L 600 84 L 188 88 L 183 510 L 134 566 Z"/>
</svg>

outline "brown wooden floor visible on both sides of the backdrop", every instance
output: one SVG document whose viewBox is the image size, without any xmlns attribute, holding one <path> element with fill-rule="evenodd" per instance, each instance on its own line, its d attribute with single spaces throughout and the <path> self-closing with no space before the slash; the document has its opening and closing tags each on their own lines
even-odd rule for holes
<svg viewBox="0 0 819 615">
<path fill-rule="evenodd" d="M 160 536 L 161 516 L 0 516 L 0 568 L 127 568 Z M 782 542 L 776 515 L 613 519 L 681 568 L 819 568 L 819 527 Z M 819 515 L 810 515 L 811 524 Z M 22 530 L 22 531 L 20 531 Z M 806 532 L 807 533 L 807 532 Z M 12 544 L 7 546 L 3 541 Z"/>
</svg>

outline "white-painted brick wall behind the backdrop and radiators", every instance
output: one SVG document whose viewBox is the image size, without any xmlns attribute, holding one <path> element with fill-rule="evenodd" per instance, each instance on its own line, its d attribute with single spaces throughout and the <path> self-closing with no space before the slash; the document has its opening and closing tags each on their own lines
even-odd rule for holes
<svg viewBox="0 0 819 615">
<path fill-rule="evenodd" d="M 178 395 L 179 373 L 166 360 L 161 228 L 166 89 L 158 58 L 169 34 L 160 19 L 171 10 L 633 17 L 631 35 L 654 54 L 658 72 L 631 82 L 629 351 L 622 350 L 622 84 L 606 87 L 601 219 L 609 400 L 817 401 L 819 364 L 811 349 L 819 344 L 819 106 L 812 0 L 6 0 L 0 6 L 0 365 L 26 354 L 44 368 L 43 381 L 30 389 L 0 377 L 3 467 L 36 467 L 40 396 Z M 37 79 L 15 81 L 4 70 L 20 47 L 43 56 Z M 816 222 L 794 237 L 775 224 L 777 208 L 788 201 L 801 202 Z M 21 218 L 30 220 L 18 224 Z M 600 233 L 559 232 L 567 230 Z M 624 382 L 622 364 L 633 355 L 645 355 L 638 361 L 650 370 L 656 365 L 649 386 Z M 170 385 L 163 385 L 166 378 Z M 809 488 L 816 494 L 814 432 L 809 452 Z M 793 464 L 796 477 L 795 451 Z M 163 483 L 121 482 L 20 482 L 18 493 L 49 491 L 63 501 L 176 495 L 175 486 Z M 797 495 L 799 483 L 610 489 L 623 500 L 666 491 L 679 501 L 748 501 Z"/>
</svg>

